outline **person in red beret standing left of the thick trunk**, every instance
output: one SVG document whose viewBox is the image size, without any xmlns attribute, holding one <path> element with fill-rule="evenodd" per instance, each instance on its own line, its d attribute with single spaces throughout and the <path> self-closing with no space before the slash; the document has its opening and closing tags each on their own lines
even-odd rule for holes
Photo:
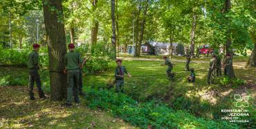
<svg viewBox="0 0 256 129">
<path fill-rule="evenodd" d="M 35 100 L 33 88 L 34 83 L 37 83 L 37 90 L 39 94 L 40 99 L 45 99 L 46 96 L 44 95 L 44 92 L 41 88 L 41 81 L 39 77 L 39 57 L 38 57 L 38 51 L 39 51 L 40 45 L 35 43 L 33 44 L 33 51 L 28 54 L 28 61 L 27 66 L 29 69 L 29 91 L 28 94 L 30 95 L 31 100 Z"/>
</svg>

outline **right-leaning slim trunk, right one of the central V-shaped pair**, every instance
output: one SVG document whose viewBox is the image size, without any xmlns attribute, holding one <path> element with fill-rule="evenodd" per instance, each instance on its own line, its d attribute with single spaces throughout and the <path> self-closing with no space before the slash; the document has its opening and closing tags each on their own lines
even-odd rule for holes
<svg viewBox="0 0 256 129">
<path fill-rule="evenodd" d="M 144 14 L 143 14 L 143 21 L 141 23 L 141 28 L 140 28 L 140 39 L 138 41 L 138 48 L 137 48 L 138 57 L 140 57 L 140 47 L 141 47 L 141 44 L 143 43 L 143 34 L 144 34 L 144 28 L 145 28 L 145 23 L 147 18 L 147 8 L 149 6 L 149 0 L 147 0 L 146 2 L 147 3 L 146 3 Z"/>
</svg>

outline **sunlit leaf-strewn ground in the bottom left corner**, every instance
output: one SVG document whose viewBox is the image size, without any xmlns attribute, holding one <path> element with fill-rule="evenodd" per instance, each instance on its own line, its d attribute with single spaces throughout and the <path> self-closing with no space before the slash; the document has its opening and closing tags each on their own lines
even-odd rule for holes
<svg viewBox="0 0 256 129">
<path fill-rule="evenodd" d="M 0 91 L 0 128 L 134 128 L 82 103 L 62 108 L 64 102 L 40 100 L 38 96 L 30 101 L 25 86 L 0 87 Z"/>
</svg>

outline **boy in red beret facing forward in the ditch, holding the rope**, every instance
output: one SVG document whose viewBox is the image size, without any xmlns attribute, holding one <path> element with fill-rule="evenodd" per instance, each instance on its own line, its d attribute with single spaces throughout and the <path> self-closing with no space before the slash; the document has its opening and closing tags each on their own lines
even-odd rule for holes
<svg viewBox="0 0 256 129">
<path fill-rule="evenodd" d="M 122 60 L 117 59 L 116 60 L 117 67 L 115 68 L 115 77 L 116 77 L 116 92 L 124 92 L 123 87 L 125 85 L 125 79 L 124 75 L 125 73 L 128 75 L 128 77 L 131 77 L 129 72 L 127 72 L 127 69 L 125 66 L 122 66 Z"/>
</svg>

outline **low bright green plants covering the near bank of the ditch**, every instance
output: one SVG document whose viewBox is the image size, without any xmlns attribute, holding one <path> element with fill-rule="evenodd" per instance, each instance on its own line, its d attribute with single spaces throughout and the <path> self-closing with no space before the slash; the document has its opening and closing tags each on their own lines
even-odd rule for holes
<svg viewBox="0 0 256 129">
<path fill-rule="evenodd" d="M 149 101 L 138 103 L 123 94 L 109 90 L 86 89 L 86 104 L 90 108 L 110 110 L 114 116 L 140 128 L 238 128 L 226 121 L 212 121 L 175 111 L 163 103 Z"/>
</svg>

